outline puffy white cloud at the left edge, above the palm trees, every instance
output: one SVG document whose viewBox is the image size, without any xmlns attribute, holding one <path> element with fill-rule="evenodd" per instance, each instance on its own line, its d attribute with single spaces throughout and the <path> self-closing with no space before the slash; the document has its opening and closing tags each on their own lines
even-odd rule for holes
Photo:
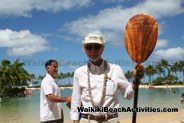
<svg viewBox="0 0 184 123">
<path fill-rule="evenodd" d="M 5 29 L 0 30 L 0 35 L 0 47 L 7 48 L 8 55 L 11 56 L 29 56 L 50 49 L 45 38 L 32 34 L 29 30 L 17 32 Z"/>
</svg>

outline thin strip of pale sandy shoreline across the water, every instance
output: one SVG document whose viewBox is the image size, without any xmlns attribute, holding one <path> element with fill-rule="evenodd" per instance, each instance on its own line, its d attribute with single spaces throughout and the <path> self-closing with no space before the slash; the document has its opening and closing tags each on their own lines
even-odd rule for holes
<svg viewBox="0 0 184 123">
<path fill-rule="evenodd" d="M 151 88 L 150 88 L 151 87 Z M 171 88 L 184 88 L 184 85 L 155 85 L 155 86 L 148 86 L 148 85 L 139 85 L 139 88 L 163 88 L 163 89 L 171 89 Z M 34 87 L 26 87 L 27 90 L 40 90 L 40 88 Z M 61 90 L 65 89 L 73 89 L 73 87 L 60 87 Z"/>
</svg>

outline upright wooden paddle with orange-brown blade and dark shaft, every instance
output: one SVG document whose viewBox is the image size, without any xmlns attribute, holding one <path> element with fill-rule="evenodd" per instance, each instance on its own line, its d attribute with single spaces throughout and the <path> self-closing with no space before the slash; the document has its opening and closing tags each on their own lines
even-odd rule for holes
<svg viewBox="0 0 184 123">
<path fill-rule="evenodd" d="M 156 20 L 147 14 L 138 14 L 133 16 L 127 23 L 124 32 L 125 48 L 130 58 L 140 64 L 148 59 L 152 53 L 158 36 L 158 24 Z M 138 71 L 138 69 L 136 70 Z M 137 72 L 138 73 L 138 72 Z M 137 74 L 138 75 L 138 74 Z M 133 108 L 137 108 L 139 82 L 138 77 L 134 80 L 135 96 Z M 132 123 L 136 123 L 136 111 L 133 112 Z"/>
</svg>

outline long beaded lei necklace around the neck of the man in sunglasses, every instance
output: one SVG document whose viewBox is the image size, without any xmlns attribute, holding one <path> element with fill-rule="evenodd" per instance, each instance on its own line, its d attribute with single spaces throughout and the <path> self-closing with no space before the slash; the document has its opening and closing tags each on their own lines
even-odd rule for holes
<svg viewBox="0 0 184 123">
<path fill-rule="evenodd" d="M 106 93 L 106 83 L 107 83 L 107 62 L 104 60 L 104 66 L 105 66 L 105 74 L 104 74 L 104 81 L 103 81 L 103 91 L 102 91 L 102 97 L 100 99 L 100 102 L 95 103 L 93 100 L 92 92 L 91 92 L 91 84 L 90 84 L 90 63 L 88 62 L 87 65 L 87 75 L 88 75 L 88 90 L 89 90 L 89 97 L 91 100 L 91 103 L 93 107 L 102 107 L 105 99 L 105 93 Z"/>
</svg>

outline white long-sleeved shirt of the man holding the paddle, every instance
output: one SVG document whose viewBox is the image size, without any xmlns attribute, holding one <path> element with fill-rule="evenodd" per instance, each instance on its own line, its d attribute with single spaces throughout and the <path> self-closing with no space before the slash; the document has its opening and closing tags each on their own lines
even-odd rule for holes
<svg viewBox="0 0 184 123">
<path fill-rule="evenodd" d="M 100 66 L 95 66 L 90 63 L 90 85 L 94 102 L 99 103 L 102 97 L 104 83 L 104 62 Z M 121 91 L 123 97 L 131 99 L 134 96 L 131 83 L 125 78 L 120 66 L 108 63 L 108 74 L 106 84 L 106 96 L 102 107 L 118 108 L 119 101 L 117 92 Z M 71 119 L 78 120 L 79 114 L 77 107 L 81 107 L 81 102 L 84 108 L 93 107 L 88 89 L 88 73 L 87 65 L 78 68 L 74 73 L 73 93 L 71 103 Z M 99 115 L 103 112 L 83 112 L 87 114 Z"/>
</svg>

